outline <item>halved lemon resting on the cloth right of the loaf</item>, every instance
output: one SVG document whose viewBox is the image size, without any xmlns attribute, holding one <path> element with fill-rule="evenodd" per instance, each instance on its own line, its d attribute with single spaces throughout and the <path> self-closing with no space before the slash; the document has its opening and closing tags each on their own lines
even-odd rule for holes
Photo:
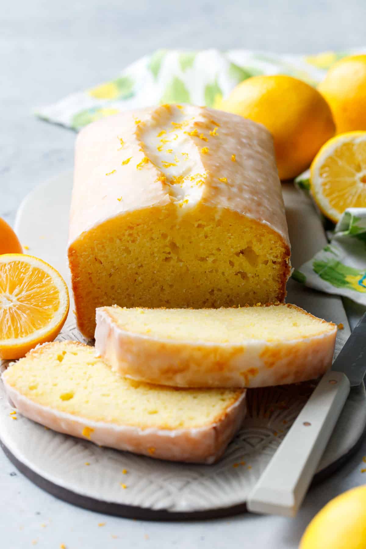
<svg viewBox="0 0 366 549">
<path fill-rule="evenodd" d="M 333 137 L 311 165 L 311 193 L 335 223 L 346 208 L 366 208 L 366 131 Z"/>
</svg>

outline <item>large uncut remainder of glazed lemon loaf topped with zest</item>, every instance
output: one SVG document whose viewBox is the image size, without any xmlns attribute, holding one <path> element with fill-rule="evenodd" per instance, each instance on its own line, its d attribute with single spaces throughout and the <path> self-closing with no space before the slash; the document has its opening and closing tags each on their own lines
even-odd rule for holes
<svg viewBox="0 0 366 549">
<path fill-rule="evenodd" d="M 283 301 L 290 245 L 271 134 L 163 105 L 77 138 L 69 264 L 78 327 L 95 309 Z"/>
</svg>

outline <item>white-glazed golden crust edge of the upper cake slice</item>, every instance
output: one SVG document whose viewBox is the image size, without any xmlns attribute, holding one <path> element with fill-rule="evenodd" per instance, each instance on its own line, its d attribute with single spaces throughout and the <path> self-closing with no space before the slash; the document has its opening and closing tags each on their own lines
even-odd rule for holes
<svg viewBox="0 0 366 549">
<path fill-rule="evenodd" d="M 278 307 L 291 307 L 312 317 L 294 305 Z M 331 366 L 337 333 L 335 324 L 317 319 L 319 334 L 297 339 L 243 338 L 242 343 L 219 344 L 174 341 L 121 329 L 113 310 L 97 309 L 98 355 L 123 376 L 178 387 L 252 388 L 315 379 Z"/>
</svg>

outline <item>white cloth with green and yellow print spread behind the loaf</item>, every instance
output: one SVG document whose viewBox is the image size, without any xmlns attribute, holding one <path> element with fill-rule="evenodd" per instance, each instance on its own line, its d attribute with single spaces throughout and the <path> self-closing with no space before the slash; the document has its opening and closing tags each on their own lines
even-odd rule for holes
<svg viewBox="0 0 366 549">
<path fill-rule="evenodd" d="M 120 75 L 106 82 L 86 85 L 36 114 L 49 122 L 74 130 L 100 117 L 162 103 L 192 103 L 221 108 L 235 86 L 254 76 L 288 75 L 316 88 L 326 72 L 350 53 L 319 52 L 315 55 L 277 54 L 215 48 L 159 49 L 134 61 Z M 97 81 L 98 82 L 98 81 Z"/>
</svg>

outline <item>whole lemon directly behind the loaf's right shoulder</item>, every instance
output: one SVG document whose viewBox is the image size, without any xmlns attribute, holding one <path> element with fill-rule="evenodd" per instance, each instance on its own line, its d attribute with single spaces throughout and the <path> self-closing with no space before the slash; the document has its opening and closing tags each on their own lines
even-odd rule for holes
<svg viewBox="0 0 366 549">
<path fill-rule="evenodd" d="M 254 76 L 244 80 L 223 100 L 221 109 L 268 128 L 282 180 L 306 170 L 335 132 L 331 110 L 322 95 L 291 76 Z"/>
</svg>

